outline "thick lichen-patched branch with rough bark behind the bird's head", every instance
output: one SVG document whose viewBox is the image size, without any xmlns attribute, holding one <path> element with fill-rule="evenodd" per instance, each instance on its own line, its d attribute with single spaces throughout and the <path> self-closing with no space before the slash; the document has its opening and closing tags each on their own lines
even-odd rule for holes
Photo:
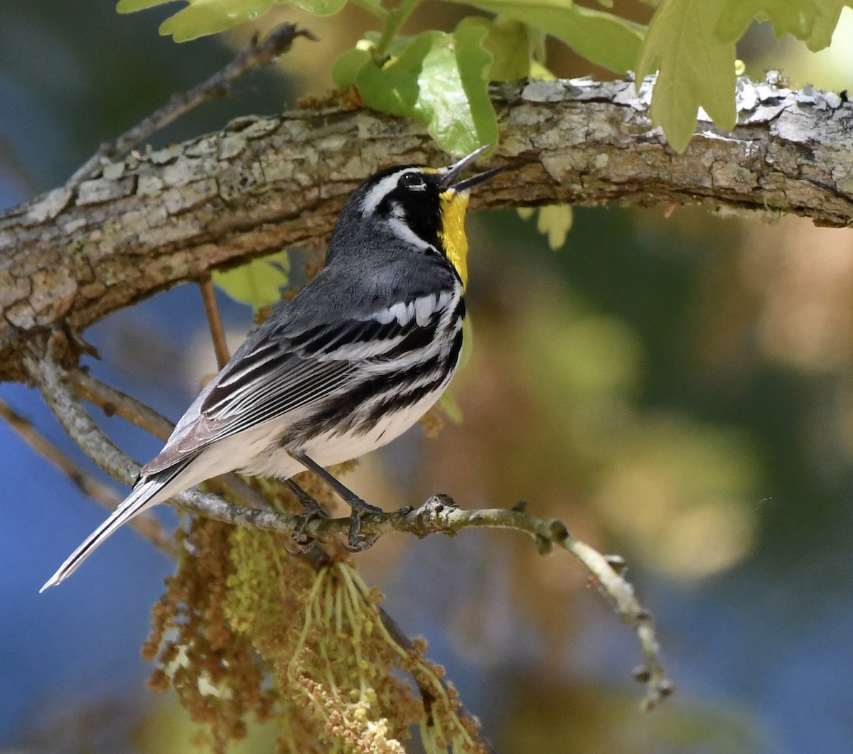
<svg viewBox="0 0 853 754">
<path fill-rule="evenodd" d="M 841 97 L 742 79 L 735 130 L 700 113 L 678 155 L 651 128 L 650 93 L 586 79 L 496 90 L 493 162 L 536 161 L 479 188 L 473 206 L 665 201 L 851 223 L 853 105 Z M 22 353 L 47 330 L 82 330 L 212 267 L 322 238 L 369 173 L 445 159 L 420 124 L 304 110 L 131 153 L 27 201 L 0 215 L 0 380 L 23 379 Z"/>
</svg>

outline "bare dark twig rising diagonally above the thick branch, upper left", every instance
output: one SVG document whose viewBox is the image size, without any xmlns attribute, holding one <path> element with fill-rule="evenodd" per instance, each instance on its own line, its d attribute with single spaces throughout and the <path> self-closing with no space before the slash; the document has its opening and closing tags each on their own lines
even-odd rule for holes
<svg viewBox="0 0 853 754">
<path fill-rule="evenodd" d="M 316 37 L 311 32 L 307 29 L 299 29 L 295 24 L 276 26 L 264 39 L 263 44 L 258 44 L 258 37 L 255 36 L 252 43 L 221 71 L 214 73 L 205 82 L 187 92 L 172 95 L 169 102 L 166 102 L 163 107 L 142 119 L 130 131 L 125 131 L 113 142 L 102 143 L 98 151 L 83 165 L 80 165 L 72 177 L 68 178 L 66 186 L 70 188 L 82 183 L 96 171 L 98 165 L 101 165 L 102 159 L 113 159 L 125 154 L 125 152 L 136 147 L 136 144 L 144 141 L 156 131 L 160 131 L 184 113 L 189 113 L 202 102 L 226 96 L 231 84 L 237 78 L 252 68 L 269 65 L 279 55 L 287 52 L 297 37 L 316 41 Z"/>
</svg>

